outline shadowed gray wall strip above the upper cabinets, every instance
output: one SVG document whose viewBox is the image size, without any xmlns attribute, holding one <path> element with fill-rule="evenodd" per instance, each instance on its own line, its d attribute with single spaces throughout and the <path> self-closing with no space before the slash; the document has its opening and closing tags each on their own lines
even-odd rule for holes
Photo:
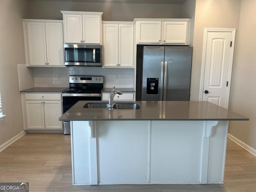
<svg viewBox="0 0 256 192">
<path fill-rule="evenodd" d="M 62 19 L 60 10 L 103 12 L 104 21 L 182 17 L 182 5 L 29 1 L 30 19 Z"/>
</svg>

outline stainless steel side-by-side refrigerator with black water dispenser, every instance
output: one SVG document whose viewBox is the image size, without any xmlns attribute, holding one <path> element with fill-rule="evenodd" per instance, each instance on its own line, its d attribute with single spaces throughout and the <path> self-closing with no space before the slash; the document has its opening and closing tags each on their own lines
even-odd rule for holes
<svg viewBox="0 0 256 192">
<path fill-rule="evenodd" d="M 140 49 L 142 58 L 137 56 L 136 100 L 188 101 L 192 47 L 143 46 L 138 52 Z"/>
</svg>

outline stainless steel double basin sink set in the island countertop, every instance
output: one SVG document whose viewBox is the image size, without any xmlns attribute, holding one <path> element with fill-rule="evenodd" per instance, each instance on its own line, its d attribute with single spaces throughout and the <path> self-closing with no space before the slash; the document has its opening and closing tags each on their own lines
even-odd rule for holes
<svg viewBox="0 0 256 192">
<path fill-rule="evenodd" d="M 108 108 L 108 103 L 86 103 L 84 108 Z M 140 109 L 140 104 L 136 102 L 117 102 L 113 104 L 114 109 Z"/>
</svg>

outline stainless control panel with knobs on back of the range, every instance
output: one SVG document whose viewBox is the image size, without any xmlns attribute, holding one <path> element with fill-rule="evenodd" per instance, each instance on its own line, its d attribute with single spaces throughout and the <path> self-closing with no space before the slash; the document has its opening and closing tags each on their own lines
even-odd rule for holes
<svg viewBox="0 0 256 192">
<path fill-rule="evenodd" d="M 103 83 L 103 76 L 70 75 L 70 83 Z"/>
</svg>

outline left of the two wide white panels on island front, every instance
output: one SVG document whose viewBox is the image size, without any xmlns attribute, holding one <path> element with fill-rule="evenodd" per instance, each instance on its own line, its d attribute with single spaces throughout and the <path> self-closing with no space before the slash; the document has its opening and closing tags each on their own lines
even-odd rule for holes
<svg viewBox="0 0 256 192">
<path fill-rule="evenodd" d="M 98 121 L 98 182 L 148 182 L 149 122 Z"/>
</svg>

